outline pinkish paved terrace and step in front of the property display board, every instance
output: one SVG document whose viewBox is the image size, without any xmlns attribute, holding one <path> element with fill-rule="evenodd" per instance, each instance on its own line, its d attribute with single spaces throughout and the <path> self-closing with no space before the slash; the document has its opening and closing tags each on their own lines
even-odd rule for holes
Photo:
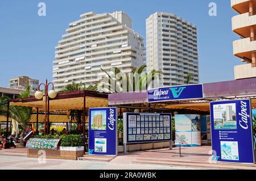
<svg viewBox="0 0 256 181">
<path fill-rule="evenodd" d="M 237 164 L 237 163 L 209 163 L 211 159 L 211 146 L 200 147 L 181 147 L 179 157 L 179 148 L 158 149 L 137 151 L 127 154 L 119 154 L 112 159 L 112 163 L 145 163 L 157 165 L 185 166 L 204 169 L 255 169 L 255 165 Z"/>
</svg>

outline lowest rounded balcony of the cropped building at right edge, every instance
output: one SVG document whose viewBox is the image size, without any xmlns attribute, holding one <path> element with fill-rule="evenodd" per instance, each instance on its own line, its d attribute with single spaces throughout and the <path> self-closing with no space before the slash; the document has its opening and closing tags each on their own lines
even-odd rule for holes
<svg viewBox="0 0 256 181">
<path fill-rule="evenodd" d="M 235 79 L 256 77 L 256 68 L 251 64 L 237 65 L 234 67 L 234 76 Z"/>
</svg>

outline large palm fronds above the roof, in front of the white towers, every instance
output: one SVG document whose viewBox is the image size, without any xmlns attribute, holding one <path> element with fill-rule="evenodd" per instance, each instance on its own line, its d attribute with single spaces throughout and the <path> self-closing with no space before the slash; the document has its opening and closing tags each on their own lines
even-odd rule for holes
<svg viewBox="0 0 256 181">
<path fill-rule="evenodd" d="M 157 75 L 162 75 L 162 71 L 151 70 L 145 73 L 146 65 L 142 65 L 138 69 L 134 68 L 131 73 L 123 73 L 119 68 L 114 67 L 105 77 L 101 78 L 98 83 L 97 91 L 100 92 L 127 92 L 147 90 L 148 86 L 155 81 Z"/>
</svg>

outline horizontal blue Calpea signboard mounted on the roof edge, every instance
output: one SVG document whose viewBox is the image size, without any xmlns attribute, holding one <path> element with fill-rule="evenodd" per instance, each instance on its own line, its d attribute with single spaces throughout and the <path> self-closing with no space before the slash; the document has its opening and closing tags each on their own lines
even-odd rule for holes
<svg viewBox="0 0 256 181">
<path fill-rule="evenodd" d="M 147 91 L 148 102 L 162 102 L 170 100 L 201 99 L 203 98 L 203 85 L 184 85 L 162 87 Z"/>
</svg>

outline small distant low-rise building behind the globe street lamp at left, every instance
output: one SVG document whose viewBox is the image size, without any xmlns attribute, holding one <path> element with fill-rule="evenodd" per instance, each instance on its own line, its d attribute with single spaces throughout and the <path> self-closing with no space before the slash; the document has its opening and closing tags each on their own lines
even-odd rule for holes
<svg viewBox="0 0 256 181">
<path fill-rule="evenodd" d="M 27 76 L 20 76 L 17 78 L 9 79 L 9 88 L 10 89 L 24 90 L 28 86 L 30 86 L 30 90 L 36 91 L 36 90 L 38 90 L 38 85 L 39 85 L 38 79 L 32 79 Z"/>
</svg>

